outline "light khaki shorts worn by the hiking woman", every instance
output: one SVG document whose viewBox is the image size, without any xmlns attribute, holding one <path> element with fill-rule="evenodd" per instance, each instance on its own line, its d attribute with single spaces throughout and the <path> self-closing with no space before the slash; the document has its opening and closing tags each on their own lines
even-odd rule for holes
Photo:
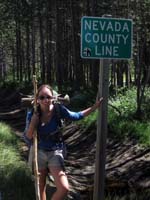
<svg viewBox="0 0 150 200">
<path fill-rule="evenodd" d="M 50 167 L 58 167 L 64 170 L 64 157 L 62 150 L 47 151 L 38 150 L 38 167 L 47 169 Z"/>
</svg>

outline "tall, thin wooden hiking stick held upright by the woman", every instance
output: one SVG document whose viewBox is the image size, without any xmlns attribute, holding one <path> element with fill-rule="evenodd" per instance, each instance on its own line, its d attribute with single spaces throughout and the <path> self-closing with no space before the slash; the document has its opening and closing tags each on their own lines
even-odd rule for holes
<svg viewBox="0 0 150 200">
<path fill-rule="evenodd" d="M 36 102 L 36 94 L 37 94 L 37 80 L 36 76 L 33 75 L 33 86 L 34 86 L 34 112 L 37 112 L 37 102 Z M 38 162 L 37 162 L 37 130 L 34 130 L 33 136 L 33 165 L 34 165 L 34 178 L 35 178 L 35 193 L 36 200 L 40 200 L 40 188 L 39 188 L 39 171 L 38 171 Z"/>
</svg>

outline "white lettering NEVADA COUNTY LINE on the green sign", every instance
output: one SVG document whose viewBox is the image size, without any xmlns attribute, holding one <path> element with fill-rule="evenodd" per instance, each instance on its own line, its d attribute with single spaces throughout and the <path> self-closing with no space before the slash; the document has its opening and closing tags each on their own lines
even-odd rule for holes
<svg viewBox="0 0 150 200">
<path fill-rule="evenodd" d="M 85 21 L 85 30 L 86 31 L 104 31 L 104 33 L 91 33 L 87 32 L 85 34 L 85 41 L 87 43 L 101 43 L 101 44 L 109 44 L 110 46 L 97 46 L 95 45 L 95 54 L 96 55 L 113 55 L 113 56 L 118 56 L 118 46 L 111 46 L 112 44 L 120 44 L 123 42 L 123 44 L 126 44 L 126 41 L 129 37 L 129 28 L 128 24 L 125 22 L 124 24 L 121 24 L 119 22 L 115 22 L 114 25 L 112 22 L 107 22 L 107 21 L 98 21 L 98 20 L 93 20 Z M 110 33 L 114 32 L 114 34 Z M 108 33 L 107 33 L 108 32 Z M 117 32 L 121 33 L 126 33 L 126 35 L 118 34 Z M 116 34 L 117 33 L 117 34 Z"/>
</svg>

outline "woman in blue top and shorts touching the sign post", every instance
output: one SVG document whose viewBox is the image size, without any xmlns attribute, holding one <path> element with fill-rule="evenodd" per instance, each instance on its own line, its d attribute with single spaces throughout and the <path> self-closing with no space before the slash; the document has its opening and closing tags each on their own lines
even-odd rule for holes
<svg viewBox="0 0 150 200">
<path fill-rule="evenodd" d="M 68 178 L 64 170 L 64 143 L 59 132 L 59 122 L 53 104 L 53 89 L 49 85 L 39 87 L 35 101 L 38 112 L 29 113 L 26 137 L 33 139 L 34 130 L 38 136 L 38 169 L 41 200 L 46 200 L 46 176 L 48 171 L 54 178 L 56 192 L 51 200 L 64 200 L 69 191 Z M 81 120 L 100 107 L 102 98 L 80 112 L 73 112 L 59 104 L 60 117 L 72 121 Z"/>
</svg>

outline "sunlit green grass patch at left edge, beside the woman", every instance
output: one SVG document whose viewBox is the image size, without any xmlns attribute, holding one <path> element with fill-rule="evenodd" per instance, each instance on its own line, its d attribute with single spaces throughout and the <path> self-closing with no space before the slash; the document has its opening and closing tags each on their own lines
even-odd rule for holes
<svg viewBox="0 0 150 200">
<path fill-rule="evenodd" d="M 0 193 L 3 200 L 34 199 L 31 172 L 20 155 L 18 138 L 0 122 Z"/>
</svg>

